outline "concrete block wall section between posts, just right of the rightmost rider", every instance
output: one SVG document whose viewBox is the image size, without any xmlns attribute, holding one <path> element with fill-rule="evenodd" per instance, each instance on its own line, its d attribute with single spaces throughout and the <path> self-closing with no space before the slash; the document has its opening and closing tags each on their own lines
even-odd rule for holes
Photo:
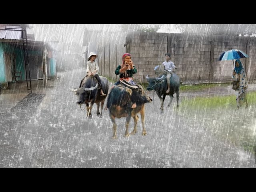
<svg viewBox="0 0 256 192">
<path fill-rule="evenodd" d="M 210 42 L 205 36 L 170 34 L 171 59 L 182 81 L 209 78 Z"/>
</svg>

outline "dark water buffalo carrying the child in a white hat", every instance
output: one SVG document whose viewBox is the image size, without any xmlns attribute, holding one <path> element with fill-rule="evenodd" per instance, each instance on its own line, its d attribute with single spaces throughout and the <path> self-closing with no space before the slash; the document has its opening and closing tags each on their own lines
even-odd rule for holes
<svg viewBox="0 0 256 192">
<path fill-rule="evenodd" d="M 94 76 L 86 76 L 86 78 L 81 81 L 78 89 L 71 90 L 72 92 L 76 92 L 76 103 L 79 104 L 80 107 L 82 104 L 86 104 L 86 117 L 88 117 L 89 119 L 92 118 L 91 110 L 94 103 L 97 104 L 97 116 L 102 118 L 103 105 L 108 95 L 108 79 L 106 77 L 100 76 L 100 80 L 102 84 L 102 90 L 106 94 L 106 96 L 100 96 L 98 82 Z"/>
</svg>

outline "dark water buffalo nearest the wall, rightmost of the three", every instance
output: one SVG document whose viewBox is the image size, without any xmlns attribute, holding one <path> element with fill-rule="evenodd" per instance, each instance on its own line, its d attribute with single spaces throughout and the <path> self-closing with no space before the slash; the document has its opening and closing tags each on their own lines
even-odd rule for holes
<svg viewBox="0 0 256 192">
<path fill-rule="evenodd" d="M 179 101 L 179 95 L 180 95 L 180 77 L 178 75 L 173 73 L 172 76 L 170 77 L 169 93 L 166 93 L 166 90 L 167 90 L 166 75 L 163 75 L 162 77 L 156 77 L 156 78 L 149 78 L 148 76 L 146 76 L 146 79 L 149 82 L 147 90 L 155 90 L 157 96 L 161 101 L 160 113 L 164 112 L 164 99 L 166 95 L 170 96 L 170 102 L 168 104 L 168 107 L 169 107 L 173 99 L 173 94 L 176 93 L 177 107 L 179 107 L 178 101 Z"/>
</svg>

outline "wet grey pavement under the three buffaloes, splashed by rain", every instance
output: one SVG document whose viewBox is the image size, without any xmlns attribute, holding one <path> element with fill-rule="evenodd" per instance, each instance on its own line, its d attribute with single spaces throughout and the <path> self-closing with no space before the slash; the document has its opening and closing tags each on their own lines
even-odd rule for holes
<svg viewBox="0 0 256 192">
<path fill-rule="evenodd" d="M 242 133 L 247 127 L 255 130 L 255 104 L 248 111 L 242 108 L 244 124 L 236 126 L 229 119 L 236 116 L 232 106 L 189 114 L 190 110 L 176 109 L 174 95 L 171 107 L 167 108 L 167 97 L 160 114 L 159 99 L 150 92 L 154 102 L 145 104 L 147 136 L 141 136 L 139 119 L 138 133 L 124 137 L 125 118 L 120 118 L 116 120 L 118 139 L 112 140 L 108 110 L 98 118 L 94 105 L 88 120 L 86 111 L 76 104 L 77 96 L 69 91 L 78 88 L 84 74 L 85 69 L 66 68 L 57 72 L 56 80 L 48 80 L 46 88 L 40 80 L 33 82 L 32 94 L 26 83 L 0 94 L 0 168 L 256 168 L 254 152 L 233 140 L 245 138 Z M 249 84 L 248 92 L 254 90 L 255 84 Z M 231 85 L 218 86 L 181 92 L 180 102 L 232 94 Z M 132 127 L 133 120 L 130 131 Z M 253 142 L 255 136 L 250 139 Z"/>
</svg>

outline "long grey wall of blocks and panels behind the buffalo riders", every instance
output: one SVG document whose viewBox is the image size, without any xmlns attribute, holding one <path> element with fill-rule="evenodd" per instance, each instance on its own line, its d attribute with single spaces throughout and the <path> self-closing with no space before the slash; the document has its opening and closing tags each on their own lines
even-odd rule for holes
<svg viewBox="0 0 256 192">
<path fill-rule="evenodd" d="M 112 38 L 115 37 L 115 38 Z M 115 42 L 117 44 L 115 45 Z M 220 36 L 206 34 L 168 34 L 156 32 L 131 32 L 128 34 L 110 34 L 104 44 L 99 46 L 99 64 L 101 74 L 118 78 L 114 74 L 117 65 L 122 62 L 122 54 L 129 52 L 138 68 L 134 75 L 136 82 L 146 82 L 146 76 L 156 76 L 154 67 L 162 64 L 165 53 L 171 54 L 171 60 L 178 70 L 176 74 L 183 82 L 226 82 L 231 81 L 232 60 L 218 61 L 220 54 L 230 49 L 239 49 L 249 58 L 241 61 L 246 67 L 248 80 L 256 79 L 256 37 Z M 124 47 L 124 43 L 127 45 Z M 115 52 L 117 49 L 117 54 Z"/>
</svg>

